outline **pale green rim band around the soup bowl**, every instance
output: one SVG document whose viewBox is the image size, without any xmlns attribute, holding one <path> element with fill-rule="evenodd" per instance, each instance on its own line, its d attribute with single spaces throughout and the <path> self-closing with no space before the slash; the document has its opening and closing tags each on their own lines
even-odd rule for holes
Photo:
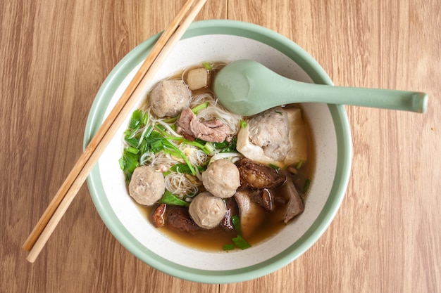
<svg viewBox="0 0 441 293">
<path fill-rule="evenodd" d="M 298 64 L 309 74 L 313 82 L 333 85 L 333 82 L 325 70 L 323 70 L 321 65 L 306 53 L 306 51 L 292 40 L 265 27 L 237 20 L 201 20 L 193 22 L 182 39 L 206 34 L 230 34 L 261 41 L 285 53 L 285 55 L 290 58 L 302 60 Z M 85 129 L 84 147 L 87 146 L 99 129 L 104 119 L 104 112 L 109 100 L 113 96 L 113 93 L 115 93 L 120 82 L 122 82 L 123 78 L 126 77 L 136 65 L 146 58 L 151 47 L 155 44 L 157 39 L 159 39 L 159 35 L 160 33 L 135 47 L 127 56 L 120 60 L 118 65 L 108 74 L 89 112 Z M 125 230 L 123 224 L 120 223 L 116 214 L 114 214 L 111 209 L 106 197 L 101 196 L 104 194 L 104 189 L 102 188 L 98 165 L 94 167 L 87 178 L 90 195 L 101 219 L 116 239 L 128 249 L 128 251 L 137 256 L 138 259 L 159 271 L 183 280 L 204 283 L 232 283 L 259 278 L 286 266 L 306 252 L 306 250 L 321 237 L 326 228 L 328 228 L 344 198 L 352 164 L 351 131 L 344 106 L 328 105 L 328 107 L 333 117 L 337 135 L 337 169 L 333 187 L 330 192 L 331 195 L 319 214 L 318 219 L 316 219 L 311 228 L 309 228 L 297 242 L 285 249 L 285 251 L 262 263 L 228 271 L 206 271 L 178 265 L 149 251 Z"/>
</svg>

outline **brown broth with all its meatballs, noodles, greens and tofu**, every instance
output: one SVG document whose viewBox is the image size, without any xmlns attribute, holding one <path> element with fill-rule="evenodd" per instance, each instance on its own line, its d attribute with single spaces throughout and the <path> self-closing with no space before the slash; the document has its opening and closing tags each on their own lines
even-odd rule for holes
<svg viewBox="0 0 441 293">
<path fill-rule="evenodd" d="M 147 221 L 209 251 L 256 245 L 301 214 L 314 163 L 300 105 L 254 117 L 228 112 L 211 89 L 223 66 L 196 65 L 154 85 L 132 114 L 120 158 Z M 189 210 L 201 194 L 220 206 Z"/>
</svg>

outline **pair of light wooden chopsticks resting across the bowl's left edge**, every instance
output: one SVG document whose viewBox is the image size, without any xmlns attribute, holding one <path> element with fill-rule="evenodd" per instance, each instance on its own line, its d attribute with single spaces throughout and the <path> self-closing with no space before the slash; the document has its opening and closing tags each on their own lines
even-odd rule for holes
<svg viewBox="0 0 441 293">
<path fill-rule="evenodd" d="M 26 258 L 27 261 L 33 263 L 37 259 L 37 256 L 42 251 L 58 222 L 75 198 L 75 195 L 77 195 L 87 176 L 89 176 L 104 149 L 110 143 L 118 128 L 123 124 L 125 118 L 130 115 L 137 101 L 141 98 L 144 89 L 154 78 L 161 64 L 166 60 L 205 2 L 206 0 L 187 0 L 178 15 L 175 16 L 158 41 L 156 41 L 149 56 L 142 63 L 132 82 L 125 89 L 120 100 L 118 100 L 118 103 L 116 103 L 97 131 L 97 134 L 87 145 L 87 148 L 75 163 L 72 171 L 70 171 L 54 199 L 50 202 L 46 211 L 44 211 L 34 230 L 27 237 L 23 245 L 23 249 L 29 252 Z"/>
</svg>

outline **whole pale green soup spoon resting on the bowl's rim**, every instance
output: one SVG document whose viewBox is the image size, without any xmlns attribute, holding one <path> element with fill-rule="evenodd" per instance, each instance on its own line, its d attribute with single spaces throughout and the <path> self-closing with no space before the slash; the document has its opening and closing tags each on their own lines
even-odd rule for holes
<svg viewBox="0 0 441 293">
<path fill-rule="evenodd" d="M 219 102 L 238 115 L 255 115 L 291 103 L 329 103 L 423 113 L 428 94 L 297 82 L 253 60 L 223 67 L 213 81 Z"/>
</svg>

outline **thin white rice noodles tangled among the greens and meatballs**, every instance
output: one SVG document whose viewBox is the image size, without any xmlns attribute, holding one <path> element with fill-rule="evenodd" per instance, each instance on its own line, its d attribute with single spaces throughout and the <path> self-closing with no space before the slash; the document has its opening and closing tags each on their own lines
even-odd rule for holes
<svg viewBox="0 0 441 293">
<path fill-rule="evenodd" d="M 225 64 L 226 63 L 211 63 L 213 70 L 218 70 L 224 67 Z M 183 70 L 181 74 L 170 77 L 169 79 L 185 80 L 187 78 L 187 71 L 192 68 L 194 67 L 189 67 L 186 70 Z M 192 92 L 190 91 L 190 93 Z M 167 171 L 165 176 L 166 190 L 170 191 L 170 193 L 173 193 L 174 195 L 177 195 L 183 200 L 191 200 L 189 197 L 196 195 L 198 193 L 199 186 L 202 184 L 201 171 L 199 171 L 197 167 L 206 167 L 216 159 L 230 159 L 230 161 L 235 162 L 241 155 L 236 152 L 218 153 L 218 150 L 213 150 L 209 155 L 207 155 L 204 150 L 201 150 L 197 146 L 190 145 L 190 143 L 185 143 L 184 136 L 175 131 L 176 119 L 156 117 L 156 115 L 154 115 L 154 113 L 151 111 L 149 100 L 149 94 L 147 94 L 147 98 L 144 100 L 144 103 L 142 103 L 142 105 L 139 107 L 140 110 L 147 113 L 147 124 L 138 129 L 134 134 L 134 136 L 139 136 L 139 143 L 137 147 L 139 148 L 144 137 L 149 136 L 147 133 L 149 129 L 158 131 L 157 127 L 161 125 L 164 131 L 170 137 L 173 137 L 173 139 L 168 139 L 168 141 L 173 143 L 176 148 L 182 151 L 182 153 L 186 155 L 188 162 L 190 162 L 190 164 L 192 164 L 194 167 L 194 176 L 189 174 L 181 174 L 176 171 L 170 171 L 170 168 L 175 164 L 187 164 L 187 162 L 181 157 L 174 157 L 163 151 L 156 153 L 145 152 L 139 158 L 139 164 L 143 166 L 152 166 L 157 171 Z M 225 110 L 225 108 L 218 103 L 214 93 L 208 88 L 206 91 L 203 89 L 198 90 L 197 94 L 191 97 L 189 107 L 193 109 L 203 103 L 208 103 L 208 106 L 196 113 L 198 119 L 203 121 L 220 119 L 235 134 L 237 134 L 240 128 L 240 120 L 242 119 L 242 116 L 232 114 L 228 110 Z M 125 146 L 128 146 L 128 144 L 125 143 Z"/>
</svg>

